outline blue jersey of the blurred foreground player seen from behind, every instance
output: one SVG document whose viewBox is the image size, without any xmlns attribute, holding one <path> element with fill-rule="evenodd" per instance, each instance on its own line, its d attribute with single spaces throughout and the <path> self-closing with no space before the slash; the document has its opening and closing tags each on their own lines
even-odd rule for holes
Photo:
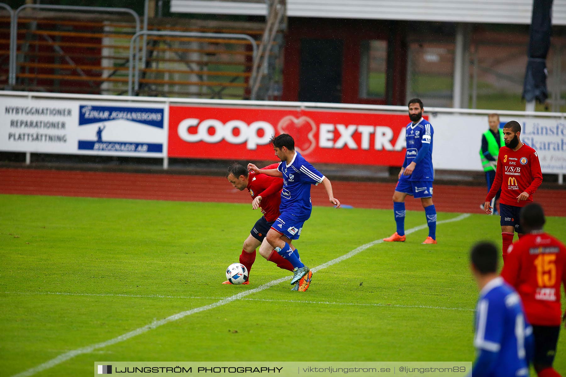
<svg viewBox="0 0 566 377">
<path fill-rule="evenodd" d="M 527 322 L 521 298 L 498 277 L 480 292 L 475 313 L 474 346 L 479 350 L 497 353 L 491 376 L 528 376 L 525 337 L 533 328 Z"/>
</svg>

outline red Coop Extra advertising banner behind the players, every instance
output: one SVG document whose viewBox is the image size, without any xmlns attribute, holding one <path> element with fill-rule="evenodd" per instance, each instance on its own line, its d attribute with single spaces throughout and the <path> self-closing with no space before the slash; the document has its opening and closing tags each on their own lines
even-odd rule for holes
<svg viewBox="0 0 566 377">
<path fill-rule="evenodd" d="M 408 115 L 375 112 L 169 107 L 169 157 L 276 159 L 269 138 L 289 133 L 312 163 L 401 166 Z"/>
</svg>

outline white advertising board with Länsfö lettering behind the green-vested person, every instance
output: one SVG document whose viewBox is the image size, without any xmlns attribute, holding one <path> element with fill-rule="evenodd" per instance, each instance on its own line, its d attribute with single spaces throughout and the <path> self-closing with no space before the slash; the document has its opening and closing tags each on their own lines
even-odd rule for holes
<svg viewBox="0 0 566 377">
<path fill-rule="evenodd" d="M 481 171 L 479 158 L 487 115 L 433 114 L 432 163 L 438 170 Z M 500 127 L 510 120 L 521 124 L 521 141 L 537 151 L 543 173 L 566 173 L 566 122 L 558 118 L 500 116 Z"/>
</svg>

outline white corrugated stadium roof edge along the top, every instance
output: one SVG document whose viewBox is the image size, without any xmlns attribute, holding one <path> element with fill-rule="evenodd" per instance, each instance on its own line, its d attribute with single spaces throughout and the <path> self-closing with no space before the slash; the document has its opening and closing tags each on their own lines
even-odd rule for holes
<svg viewBox="0 0 566 377">
<path fill-rule="evenodd" d="M 536 0 L 287 0 L 289 17 L 530 24 Z M 263 0 L 171 0 L 171 12 L 265 15 Z M 553 25 L 566 25 L 566 0 L 555 0 Z"/>
</svg>

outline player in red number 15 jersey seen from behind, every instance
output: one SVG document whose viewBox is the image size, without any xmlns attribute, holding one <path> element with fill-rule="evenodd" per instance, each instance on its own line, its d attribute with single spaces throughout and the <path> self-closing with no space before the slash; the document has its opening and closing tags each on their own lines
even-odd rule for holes
<svg viewBox="0 0 566 377">
<path fill-rule="evenodd" d="M 521 210 L 525 235 L 509 246 L 501 276 L 512 285 L 533 325 L 534 369 L 539 377 L 560 377 L 552 368 L 560 332 L 560 284 L 566 287 L 566 247 L 544 233 L 544 213 L 537 203 Z"/>
</svg>

